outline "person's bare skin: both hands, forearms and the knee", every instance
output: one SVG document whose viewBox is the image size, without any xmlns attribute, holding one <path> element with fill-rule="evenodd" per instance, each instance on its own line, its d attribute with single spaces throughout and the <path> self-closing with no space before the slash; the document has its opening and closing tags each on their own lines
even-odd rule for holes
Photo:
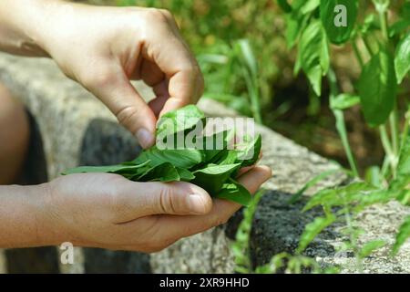
<svg viewBox="0 0 410 292">
<path fill-rule="evenodd" d="M 203 90 L 195 58 L 167 11 L 2 0 L 0 49 L 52 57 L 68 78 L 100 99 L 145 148 L 155 141 L 159 116 L 195 103 Z M 147 104 L 131 79 L 151 86 L 156 99 Z M 27 143 L 23 110 L 8 95 L 5 89 L 0 91 L 2 107 L 8 104 L 21 116 L 0 110 L 0 121 L 2 114 L 12 121 L 6 127 L 0 124 L 0 137 L 18 146 L 0 145 L 0 152 L 9 151 L 0 154 L 0 165 L 15 170 L 0 183 L 18 175 Z M 10 125 L 21 129 L 7 132 Z M 255 166 L 242 170 L 238 180 L 254 193 L 270 176 L 268 167 Z M 212 200 L 191 183 L 135 183 L 116 174 L 73 174 L 36 186 L 0 186 L 0 200 L 0 247 L 69 241 L 142 252 L 159 251 L 181 237 L 223 224 L 240 208 L 237 203 Z"/>
</svg>

